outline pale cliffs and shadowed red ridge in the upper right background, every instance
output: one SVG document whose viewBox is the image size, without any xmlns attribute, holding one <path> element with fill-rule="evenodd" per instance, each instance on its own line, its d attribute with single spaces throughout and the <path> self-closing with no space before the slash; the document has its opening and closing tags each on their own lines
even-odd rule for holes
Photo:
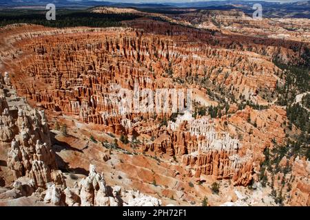
<svg viewBox="0 0 310 220">
<path fill-rule="evenodd" d="M 267 56 L 269 61 L 276 58 L 282 63 L 293 65 L 307 63 L 308 19 L 287 19 L 283 23 L 281 19 L 254 20 L 242 12 L 224 13 L 223 11 L 200 10 L 174 17 L 176 22 L 192 25 L 194 29 L 167 22 L 154 22 L 152 19 L 145 18 L 125 23 L 148 33 L 177 35 L 178 38 L 183 36 L 183 42 L 196 42 L 198 39 L 225 49 L 255 52 Z M 289 30 L 291 27 L 296 27 L 301 32 L 296 34 Z M 265 38 L 262 37 L 258 41 L 258 36 L 265 36 Z"/>
</svg>

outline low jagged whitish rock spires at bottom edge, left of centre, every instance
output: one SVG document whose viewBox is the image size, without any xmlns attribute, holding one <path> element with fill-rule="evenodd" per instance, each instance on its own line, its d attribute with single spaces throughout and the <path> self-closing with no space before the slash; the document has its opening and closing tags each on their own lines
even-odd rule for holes
<svg viewBox="0 0 310 220">
<path fill-rule="evenodd" d="M 52 185 L 45 201 L 59 204 L 61 193 Z M 68 206 L 161 206 L 161 200 L 143 195 L 141 192 L 124 190 L 121 186 L 107 186 L 103 174 L 96 173 L 90 164 L 90 173 L 74 188 L 65 188 L 65 203 Z"/>
</svg>

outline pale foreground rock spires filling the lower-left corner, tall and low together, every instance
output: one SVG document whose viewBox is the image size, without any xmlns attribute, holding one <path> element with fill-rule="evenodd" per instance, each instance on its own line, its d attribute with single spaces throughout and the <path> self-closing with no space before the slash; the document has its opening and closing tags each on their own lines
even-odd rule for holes
<svg viewBox="0 0 310 220">
<path fill-rule="evenodd" d="M 7 76 L 8 78 L 8 76 Z M 4 89 L 10 90 L 8 83 Z M 1 90 L 6 95 L 7 91 Z M 8 147 L 8 168 L 14 175 L 12 189 L 0 192 L 0 199 L 35 197 L 54 206 L 160 206 L 161 201 L 140 192 L 123 190 L 120 186 L 105 184 L 103 175 L 90 165 L 88 177 L 74 188 L 65 188 L 65 179 L 57 170 L 52 151 L 50 131 L 43 111 L 20 103 L 19 109 L 10 109 L 6 96 L 0 97 L 3 112 L 1 147 Z M 103 159 L 108 158 L 105 155 Z M 0 179 L 3 181 L 2 177 Z"/>
</svg>

